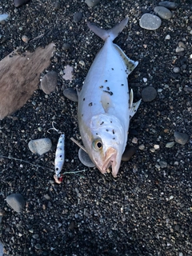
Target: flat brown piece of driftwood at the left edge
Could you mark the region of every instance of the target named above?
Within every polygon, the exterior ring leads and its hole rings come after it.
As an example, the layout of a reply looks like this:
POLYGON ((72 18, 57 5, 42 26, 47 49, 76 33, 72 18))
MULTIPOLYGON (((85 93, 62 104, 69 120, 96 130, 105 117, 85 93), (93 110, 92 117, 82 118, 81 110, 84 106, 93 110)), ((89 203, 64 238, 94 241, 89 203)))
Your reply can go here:
POLYGON ((39 76, 50 65, 54 43, 38 47, 33 53, 12 52, 0 62, 0 119, 20 109, 34 90, 39 76))

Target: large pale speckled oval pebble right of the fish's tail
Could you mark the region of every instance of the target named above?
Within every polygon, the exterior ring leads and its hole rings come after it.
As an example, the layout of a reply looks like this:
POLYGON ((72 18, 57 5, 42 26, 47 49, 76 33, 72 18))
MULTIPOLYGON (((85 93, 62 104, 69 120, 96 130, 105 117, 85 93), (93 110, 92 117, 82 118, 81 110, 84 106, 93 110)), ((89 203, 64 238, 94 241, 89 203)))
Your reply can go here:
POLYGON ((161 24, 161 18, 154 14, 143 14, 139 20, 139 26, 146 30, 157 30, 161 24))

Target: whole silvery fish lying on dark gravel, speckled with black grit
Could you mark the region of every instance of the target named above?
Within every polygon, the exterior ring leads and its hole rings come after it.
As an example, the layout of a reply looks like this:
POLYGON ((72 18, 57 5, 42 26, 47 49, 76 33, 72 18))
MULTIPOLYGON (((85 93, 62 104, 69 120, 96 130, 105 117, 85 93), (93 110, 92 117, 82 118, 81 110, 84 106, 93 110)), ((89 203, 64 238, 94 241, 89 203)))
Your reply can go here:
POLYGON ((127 22, 128 18, 124 18, 110 30, 87 23, 105 43, 78 91, 78 126, 83 146, 98 170, 106 174, 111 169, 114 178, 126 148, 130 118, 141 102, 133 103, 133 90, 129 92, 127 82, 138 62, 113 42, 127 22))

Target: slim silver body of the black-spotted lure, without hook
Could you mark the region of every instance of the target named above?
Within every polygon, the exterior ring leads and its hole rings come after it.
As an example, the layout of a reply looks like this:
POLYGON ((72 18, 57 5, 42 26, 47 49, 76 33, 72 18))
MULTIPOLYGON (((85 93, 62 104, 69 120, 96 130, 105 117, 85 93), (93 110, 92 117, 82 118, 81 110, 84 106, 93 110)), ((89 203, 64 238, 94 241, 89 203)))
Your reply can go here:
POLYGON ((61 134, 58 138, 57 150, 55 152, 54 170, 59 178, 62 171, 62 166, 65 162, 65 134, 61 134))

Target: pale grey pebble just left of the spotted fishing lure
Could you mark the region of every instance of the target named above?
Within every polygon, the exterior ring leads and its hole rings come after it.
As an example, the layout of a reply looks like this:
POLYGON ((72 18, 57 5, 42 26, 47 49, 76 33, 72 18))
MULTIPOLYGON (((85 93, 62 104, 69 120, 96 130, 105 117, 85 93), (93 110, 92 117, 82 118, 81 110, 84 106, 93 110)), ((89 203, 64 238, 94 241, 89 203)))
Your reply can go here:
POLYGON ((50 151, 52 142, 50 141, 50 138, 38 138, 31 140, 28 143, 28 146, 32 153, 42 155, 50 151))

